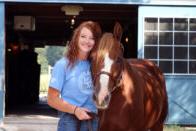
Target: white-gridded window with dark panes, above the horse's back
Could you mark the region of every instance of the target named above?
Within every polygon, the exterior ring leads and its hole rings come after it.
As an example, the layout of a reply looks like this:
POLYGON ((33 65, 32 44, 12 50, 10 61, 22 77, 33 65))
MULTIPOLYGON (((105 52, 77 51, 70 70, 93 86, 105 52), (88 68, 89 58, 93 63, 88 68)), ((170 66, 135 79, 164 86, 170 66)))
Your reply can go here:
POLYGON ((143 43, 164 73, 196 75, 196 18, 144 17, 143 43))

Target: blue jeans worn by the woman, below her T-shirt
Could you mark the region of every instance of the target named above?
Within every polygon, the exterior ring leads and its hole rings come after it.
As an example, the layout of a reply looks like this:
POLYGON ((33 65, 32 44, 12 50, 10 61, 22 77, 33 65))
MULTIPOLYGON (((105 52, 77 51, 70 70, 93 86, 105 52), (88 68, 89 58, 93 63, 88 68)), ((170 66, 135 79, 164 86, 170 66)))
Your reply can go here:
POLYGON ((78 131, 78 126, 80 131, 88 131, 89 124, 93 131, 97 131, 98 128, 98 117, 94 117, 91 120, 80 121, 75 115, 69 113, 60 112, 60 119, 58 121, 58 131, 78 131))

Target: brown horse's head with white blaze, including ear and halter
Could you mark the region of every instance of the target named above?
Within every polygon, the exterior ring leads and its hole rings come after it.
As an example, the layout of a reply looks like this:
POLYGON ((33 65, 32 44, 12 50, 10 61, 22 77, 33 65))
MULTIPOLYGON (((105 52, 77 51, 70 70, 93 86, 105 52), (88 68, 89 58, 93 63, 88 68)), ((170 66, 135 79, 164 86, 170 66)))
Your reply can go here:
POLYGON ((119 86, 122 72, 123 50, 120 43, 122 27, 114 26, 113 33, 104 33, 92 57, 94 101, 97 108, 106 109, 112 92, 119 86))

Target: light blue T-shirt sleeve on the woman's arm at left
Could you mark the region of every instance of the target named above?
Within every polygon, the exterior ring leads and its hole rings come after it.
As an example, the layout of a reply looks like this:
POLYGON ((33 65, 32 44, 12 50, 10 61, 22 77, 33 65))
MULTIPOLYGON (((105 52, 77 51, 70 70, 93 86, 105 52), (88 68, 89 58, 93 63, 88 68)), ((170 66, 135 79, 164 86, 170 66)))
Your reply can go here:
POLYGON ((67 62, 65 60, 59 60, 53 67, 52 75, 49 83, 49 87, 57 89, 61 92, 63 83, 65 80, 65 70, 66 70, 67 62))

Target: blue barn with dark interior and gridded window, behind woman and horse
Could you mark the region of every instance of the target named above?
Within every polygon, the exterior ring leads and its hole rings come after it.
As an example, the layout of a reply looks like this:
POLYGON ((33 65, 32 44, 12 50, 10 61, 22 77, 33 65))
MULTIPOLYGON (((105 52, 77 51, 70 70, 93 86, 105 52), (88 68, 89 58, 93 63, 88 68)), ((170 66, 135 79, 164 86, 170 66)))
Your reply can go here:
POLYGON ((34 49, 65 46, 75 26, 94 20, 103 31, 119 21, 124 57, 150 59, 164 72, 166 124, 195 126, 195 6, 194 0, 0 0, 0 123, 13 105, 39 101, 34 49))

